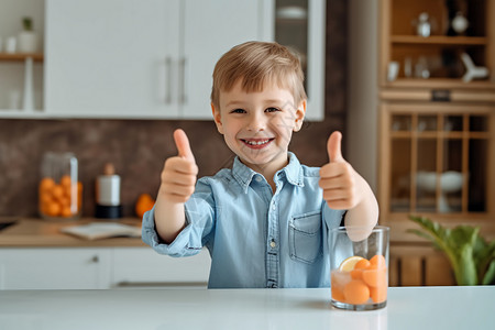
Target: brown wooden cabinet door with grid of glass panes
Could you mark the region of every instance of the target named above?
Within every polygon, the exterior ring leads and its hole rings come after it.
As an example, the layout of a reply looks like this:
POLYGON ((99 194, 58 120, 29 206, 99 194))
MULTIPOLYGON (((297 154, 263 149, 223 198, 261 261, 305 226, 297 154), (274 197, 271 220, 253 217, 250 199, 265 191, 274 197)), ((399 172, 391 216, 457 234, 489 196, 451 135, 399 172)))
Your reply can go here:
MULTIPOLYGON (((493 107, 388 103, 382 108, 381 213, 492 219, 493 107)), ((468 220, 466 219, 466 220, 468 220)))

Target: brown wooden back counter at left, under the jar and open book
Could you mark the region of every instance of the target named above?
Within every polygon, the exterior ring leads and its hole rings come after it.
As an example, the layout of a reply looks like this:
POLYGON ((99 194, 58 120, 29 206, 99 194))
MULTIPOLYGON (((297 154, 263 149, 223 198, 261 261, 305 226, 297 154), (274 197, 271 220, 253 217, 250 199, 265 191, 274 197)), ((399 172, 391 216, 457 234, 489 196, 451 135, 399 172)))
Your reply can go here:
POLYGON ((47 221, 36 218, 0 219, 0 223, 10 223, 0 231, 1 248, 86 248, 86 246, 146 246, 140 238, 111 238, 88 241, 62 233, 61 229, 69 226, 81 226, 90 222, 111 222, 141 227, 141 219, 122 218, 119 220, 81 218, 67 221, 47 221))

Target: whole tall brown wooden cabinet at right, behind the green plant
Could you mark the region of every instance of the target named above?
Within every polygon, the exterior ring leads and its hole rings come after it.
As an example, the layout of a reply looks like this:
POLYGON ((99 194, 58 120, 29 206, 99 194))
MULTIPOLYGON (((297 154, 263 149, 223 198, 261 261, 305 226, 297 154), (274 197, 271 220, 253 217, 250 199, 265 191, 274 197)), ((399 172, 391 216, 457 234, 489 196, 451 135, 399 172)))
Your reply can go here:
POLYGON ((396 233, 391 283, 452 284, 443 255, 405 232, 418 215, 494 235, 495 1, 381 0, 380 8, 378 202, 380 221, 396 233), (452 29, 458 12, 469 21, 462 33, 452 29), (425 18, 428 35, 418 26, 425 18), (463 54, 487 75, 466 79, 463 54))

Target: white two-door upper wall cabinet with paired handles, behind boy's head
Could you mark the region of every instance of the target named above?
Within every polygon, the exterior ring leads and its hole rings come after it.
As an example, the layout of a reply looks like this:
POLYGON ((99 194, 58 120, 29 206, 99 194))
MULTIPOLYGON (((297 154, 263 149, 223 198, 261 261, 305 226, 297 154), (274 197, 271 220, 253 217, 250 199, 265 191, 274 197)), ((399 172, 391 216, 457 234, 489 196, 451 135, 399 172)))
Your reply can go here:
POLYGON ((211 119, 215 63, 264 37, 262 3, 47 0, 46 113, 211 119))

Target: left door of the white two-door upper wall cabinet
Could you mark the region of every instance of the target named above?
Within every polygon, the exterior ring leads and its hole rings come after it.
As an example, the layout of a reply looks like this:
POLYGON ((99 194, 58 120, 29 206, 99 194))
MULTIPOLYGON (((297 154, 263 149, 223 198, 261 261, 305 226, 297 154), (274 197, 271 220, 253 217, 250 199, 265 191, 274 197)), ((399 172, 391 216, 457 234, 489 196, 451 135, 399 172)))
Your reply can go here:
POLYGON ((47 0, 47 113, 177 117, 178 8, 178 0, 47 0))

